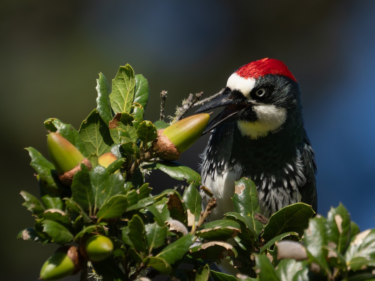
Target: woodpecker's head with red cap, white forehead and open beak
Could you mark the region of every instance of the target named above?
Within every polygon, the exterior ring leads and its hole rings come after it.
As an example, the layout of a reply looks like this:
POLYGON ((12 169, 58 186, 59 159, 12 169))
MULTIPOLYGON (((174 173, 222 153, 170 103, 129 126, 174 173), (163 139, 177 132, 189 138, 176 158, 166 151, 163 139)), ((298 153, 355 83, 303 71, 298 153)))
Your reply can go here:
POLYGON ((252 139, 282 129, 292 112, 301 112, 296 78, 282 61, 264 58, 237 69, 222 92, 195 113, 225 106, 204 133, 236 120, 242 135, 252 139))

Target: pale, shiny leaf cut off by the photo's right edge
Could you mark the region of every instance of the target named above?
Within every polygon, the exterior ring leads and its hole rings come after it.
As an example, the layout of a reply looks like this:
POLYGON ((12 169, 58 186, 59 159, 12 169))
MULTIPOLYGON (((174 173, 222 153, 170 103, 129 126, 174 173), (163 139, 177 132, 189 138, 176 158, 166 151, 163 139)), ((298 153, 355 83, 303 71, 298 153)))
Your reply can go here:
POLYGON ((375 266, 375 229, 354 236, 345 253, 345 260, 348 269, 353 271, 375 266))

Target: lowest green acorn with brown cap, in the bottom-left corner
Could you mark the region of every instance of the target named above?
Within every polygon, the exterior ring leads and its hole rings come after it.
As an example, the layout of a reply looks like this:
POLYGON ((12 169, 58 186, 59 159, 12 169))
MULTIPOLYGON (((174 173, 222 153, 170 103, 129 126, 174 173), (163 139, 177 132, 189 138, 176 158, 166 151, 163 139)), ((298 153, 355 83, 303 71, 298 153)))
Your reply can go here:
POLYGON ((82 257, 75 246, 59 248, 40 269, 40 280, 60 280, 77 274, 82 268, 82 257))

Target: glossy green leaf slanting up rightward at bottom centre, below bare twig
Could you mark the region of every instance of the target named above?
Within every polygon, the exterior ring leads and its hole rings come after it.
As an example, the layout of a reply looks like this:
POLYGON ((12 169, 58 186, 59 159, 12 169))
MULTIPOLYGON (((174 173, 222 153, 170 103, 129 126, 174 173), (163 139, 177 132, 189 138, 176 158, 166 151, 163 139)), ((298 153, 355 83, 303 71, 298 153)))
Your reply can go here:
POLYGON ((195 241, 195 236, 186 234, 165 247, 156 257, 165 260, 169 265, 173 265, 189 251, 190 246, 195 241))

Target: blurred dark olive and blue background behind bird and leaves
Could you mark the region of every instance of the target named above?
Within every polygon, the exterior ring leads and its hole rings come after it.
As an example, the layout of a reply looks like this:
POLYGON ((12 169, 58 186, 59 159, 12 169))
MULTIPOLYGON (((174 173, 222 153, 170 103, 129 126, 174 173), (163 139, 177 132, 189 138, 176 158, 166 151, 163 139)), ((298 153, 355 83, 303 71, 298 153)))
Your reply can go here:
MULTIPOLYGON (((79 129, 96 107, 98 73, 111 83, 126 63, 148 79, 146 118, 156 121, 162 90, 168 91, 166 114, 172 115, 189 93, 209 96, 225 87, 243 64, 264 57, 284 61, 299 81, 317 157, 318 212, 326 216, 342 202, 361 230, 375 227, 375 1, 20 0, 0 5, 2 280, 37 280, 56 249, 16 239, 34 221, 19 193, 38 194, 23 148, 47 155, 46 118, 79 129)), ((207 139, 180 162, 197 169, 207 139)), ((151 183, 157 176, 153 173, 151 183)))

